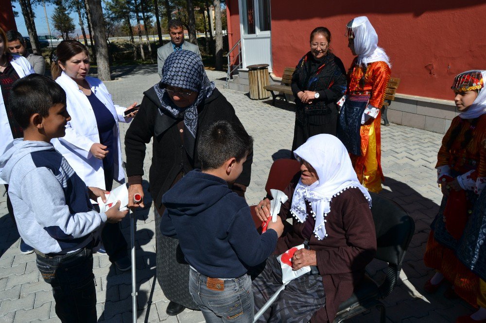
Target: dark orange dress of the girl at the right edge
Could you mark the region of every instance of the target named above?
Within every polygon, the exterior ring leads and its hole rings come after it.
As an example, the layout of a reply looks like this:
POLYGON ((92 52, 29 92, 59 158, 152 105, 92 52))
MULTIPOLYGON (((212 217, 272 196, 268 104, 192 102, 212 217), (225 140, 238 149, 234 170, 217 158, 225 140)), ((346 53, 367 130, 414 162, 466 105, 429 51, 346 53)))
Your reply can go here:
MULTIPOLYGON (((437 154, 435 167, 449 165, 451 170, 459 174, 467 173, 475 169, 471 174, 472 179, 486 177, 486 114, 479 117, 479 121, 472 126, 469 121, 461 120, 456 116, 451 126, 442 139, 442 146, 437 154), (460 131, 447 149, 447 143, 451 138, 453 129, 460 127, 460 131), (473 137, 465 148, 461 143, 466 140, 466 134, 473 128, 473 137)), ((442 221, 442 218, 436 221, 442 221)), ((446 219, 447 221, 447 219, 446 219)), ((454 291, 472 306, 486 306, 486 285, 477 275, 472 273, 455 256, 455 251, 443 246, 434 239, 434 230, 429 234, 427 248, 425 249, 424 263, 427 267, 434 268, 454 286, 454 291)))

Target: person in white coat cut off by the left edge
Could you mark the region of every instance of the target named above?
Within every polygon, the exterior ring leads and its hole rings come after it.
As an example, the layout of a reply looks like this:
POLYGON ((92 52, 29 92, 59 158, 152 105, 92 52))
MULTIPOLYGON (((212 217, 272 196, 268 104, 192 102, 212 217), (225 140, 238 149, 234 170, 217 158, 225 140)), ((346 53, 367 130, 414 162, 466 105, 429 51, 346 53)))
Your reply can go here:
MULTIPOLYGON (((8 52, 7 36, 0 28, 0 155, 3 154, 5 147, 17 138, 22 138, 23 131, 15 121, 12 112, 8 107, 8 92, 14 81, 23 78, 26 75, 35 73, 34 68, 22 56, 12 55, 8 52)), ((0 170, 1 172, 1 170, 0 170)), ((5 185, 5 191, 8 192, 8 185, 0 178, 0 184, 5 185)), ((7 195, 7 209, 15 222, 14 210, 7 195)), ((30 254, 34 249, 20 240, 20 251, 23 254, 30 254)))

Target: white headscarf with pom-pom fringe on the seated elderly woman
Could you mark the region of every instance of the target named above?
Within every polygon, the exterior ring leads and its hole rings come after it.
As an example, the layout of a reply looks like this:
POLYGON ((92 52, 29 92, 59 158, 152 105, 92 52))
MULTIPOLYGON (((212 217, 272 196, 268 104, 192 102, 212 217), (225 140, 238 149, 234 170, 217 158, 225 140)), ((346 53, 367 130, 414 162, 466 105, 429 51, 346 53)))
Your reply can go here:
POLYGON ((298 147, 294 154, 309 162, 319 179, 312 185, 302 184, 302 179, 299 180, 290 211, 302 223, 307 218, 304 199, 311 202, 315 218, 313 232, 317 239, 322 240, 328 236, 325 218, 330 212, 332 197, 347 188, 359 188, 371 207, 371 196, 358 181, 347 149, 339 139, 330 134, 315 135, 298 147))

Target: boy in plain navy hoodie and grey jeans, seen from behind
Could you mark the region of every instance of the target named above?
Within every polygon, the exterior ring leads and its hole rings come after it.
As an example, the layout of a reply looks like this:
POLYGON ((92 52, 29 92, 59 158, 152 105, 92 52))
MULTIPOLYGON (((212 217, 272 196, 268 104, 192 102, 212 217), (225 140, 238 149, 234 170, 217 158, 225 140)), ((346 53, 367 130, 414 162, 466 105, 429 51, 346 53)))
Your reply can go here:
POLYGON ((259 235, 244 198, 228 188, 243 171, 253 138, 241 125, 217 121, 201 132, 193 170, 162 197, 162 234, 179 239, 191 265, 189 291, 206 322, 252 322, 248 267, 265 261, 282 234, 281 220, 259 235))

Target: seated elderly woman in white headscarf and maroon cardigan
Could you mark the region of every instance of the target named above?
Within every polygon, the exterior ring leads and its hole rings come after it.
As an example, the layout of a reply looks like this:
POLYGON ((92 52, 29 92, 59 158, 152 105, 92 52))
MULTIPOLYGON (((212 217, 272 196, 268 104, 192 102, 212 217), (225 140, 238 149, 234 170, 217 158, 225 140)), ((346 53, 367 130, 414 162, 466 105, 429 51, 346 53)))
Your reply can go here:
MULTIPOLYGON (((294 154, 301 172, 284 191, 289 199, 279 213, 282 220, 294 217, 293 226, 278 240, 274 255, 304 244, 294 253, 293 270, 314 268, 290 281, 257 322, 332 322, 376 251, 371 197, 336 137, 312 136, 294 154)), ((261 201, 255 209, 266 221, 270 201, 261 201)), ((281 265, 271 256, 253 281, 255 312, 281 286, 281 265)))

